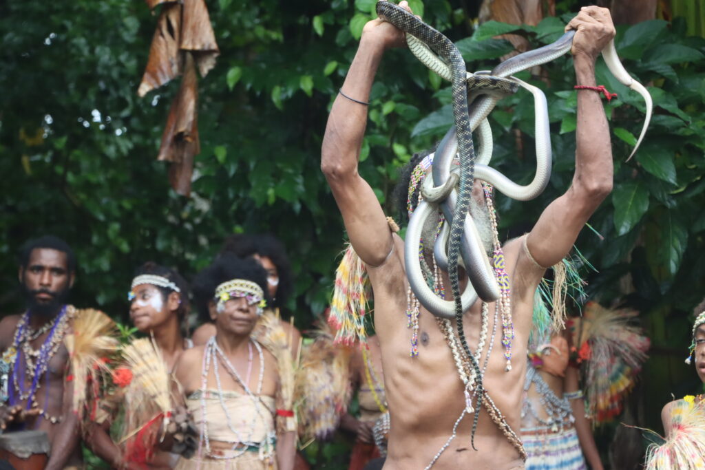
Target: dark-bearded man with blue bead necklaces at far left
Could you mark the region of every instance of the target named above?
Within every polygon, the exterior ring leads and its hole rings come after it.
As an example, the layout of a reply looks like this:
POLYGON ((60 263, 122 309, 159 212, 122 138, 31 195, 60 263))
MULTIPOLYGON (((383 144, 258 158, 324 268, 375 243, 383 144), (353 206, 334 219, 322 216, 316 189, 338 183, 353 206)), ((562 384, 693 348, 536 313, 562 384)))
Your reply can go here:
POLYGON ((76 311, 66 304, 75 256, 66 242, 48 235, 25 243, 19 264, 27 311, 0 321, 0 351, 8 366, 0 426, 46 431, 51 444, 46 468, 78 467, 79 422, 72 412, 73 381, 66 380, 69 357, 63 344, 76 311))

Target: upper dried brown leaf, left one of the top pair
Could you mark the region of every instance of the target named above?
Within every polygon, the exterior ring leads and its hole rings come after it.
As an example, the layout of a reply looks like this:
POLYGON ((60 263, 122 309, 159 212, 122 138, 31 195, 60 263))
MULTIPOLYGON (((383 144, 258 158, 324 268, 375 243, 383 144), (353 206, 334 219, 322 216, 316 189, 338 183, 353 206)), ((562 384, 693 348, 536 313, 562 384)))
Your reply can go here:
POLYGON ((181 5, 165 5, 157 21, 149 59, 137 89, 140 97, 152 89, 159 88, 181 73, 179 43, 181 37, 181 5))

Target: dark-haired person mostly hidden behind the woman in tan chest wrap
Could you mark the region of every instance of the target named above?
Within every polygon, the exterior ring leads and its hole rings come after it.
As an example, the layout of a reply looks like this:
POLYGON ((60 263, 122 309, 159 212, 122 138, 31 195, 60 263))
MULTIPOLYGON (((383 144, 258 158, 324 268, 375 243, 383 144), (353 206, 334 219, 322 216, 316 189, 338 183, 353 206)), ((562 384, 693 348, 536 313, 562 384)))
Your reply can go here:
MULTIPOLYGON (((274 315, 278 318, 289 338, 292 357, 296 359, 301 333, 293 326, 293 321, 281 319, 281 309, 286 305, 292 288, 291 268, 283 245, 272 235, 238 234, 226 239, 219 256, 226 253, 234 254, 240 259, 255 259, 266 271, 266 290, 272 299, 266 315, 274 315)), ((196 281, 194 299, 202 325, 193 332, 192 338, 195 345, 204 345, 215 335, 216 330, 214 304, 209 299, 209 293, 201 291, 196 281)))

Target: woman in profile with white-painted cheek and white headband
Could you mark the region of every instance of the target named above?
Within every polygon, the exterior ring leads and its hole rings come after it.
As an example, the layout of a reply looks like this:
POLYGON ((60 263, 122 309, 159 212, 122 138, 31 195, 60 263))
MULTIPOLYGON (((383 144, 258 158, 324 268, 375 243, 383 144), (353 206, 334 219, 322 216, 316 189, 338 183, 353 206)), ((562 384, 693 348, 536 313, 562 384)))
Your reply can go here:
MULTIPOLYGON (((184 338, 181 326, 188 314, 188 285, 176 271, 153 262, 147 262, 135 272, 128 292, 130 320, 140 333, 149 335, 159 347, 166 367, 173 371, 176 362, 185 350, 193 346, 184 338)), ((90 425, 87 444, 98 457, 116 469, 130 468, 123 462, 124 452, 109 435, 115 409, 120 403, 106 397, 90 425)), ((149 469, 171 469, 178 455, 170 452, 154 452, 147 463, 149 469)), ((144 469, 139 464, 135 468, 144 469)))

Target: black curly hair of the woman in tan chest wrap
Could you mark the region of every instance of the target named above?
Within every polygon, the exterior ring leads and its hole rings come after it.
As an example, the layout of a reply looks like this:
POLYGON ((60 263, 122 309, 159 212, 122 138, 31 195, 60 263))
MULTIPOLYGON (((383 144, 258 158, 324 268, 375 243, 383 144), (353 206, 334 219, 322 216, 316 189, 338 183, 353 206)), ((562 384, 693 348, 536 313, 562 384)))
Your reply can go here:
POLYGON ((216 287, 233 279, 246 279, 257 283, 264 291, 266 303, 271 304, 266 287, 266 271, 262 265, 255 259, 242 259, 231 252, 224 252, 213 264, 202 269, 193 280, 193 302, 198 310, 200 323, 212 323, 208 304, 215 297, 216 287))

